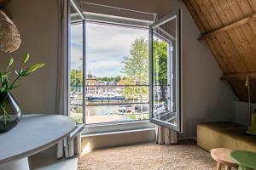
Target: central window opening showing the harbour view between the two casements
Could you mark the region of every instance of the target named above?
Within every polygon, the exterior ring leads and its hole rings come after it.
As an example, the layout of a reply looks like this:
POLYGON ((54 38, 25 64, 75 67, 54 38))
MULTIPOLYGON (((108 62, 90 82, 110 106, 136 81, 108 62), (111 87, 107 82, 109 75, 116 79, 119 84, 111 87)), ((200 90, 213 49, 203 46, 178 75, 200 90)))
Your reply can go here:
POLYGON ((148 119, 148 30, 86 26, 86 123, 148 119))

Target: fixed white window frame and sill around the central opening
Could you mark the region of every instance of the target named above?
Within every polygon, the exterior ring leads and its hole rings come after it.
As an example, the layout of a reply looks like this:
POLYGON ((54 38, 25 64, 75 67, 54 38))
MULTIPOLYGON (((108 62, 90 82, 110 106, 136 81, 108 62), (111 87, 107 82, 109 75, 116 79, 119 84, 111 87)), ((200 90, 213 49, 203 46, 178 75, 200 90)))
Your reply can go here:
MULTIPOLYGON (((86 15, 86 14, 85 14, 86 15)), ((126 26, 126 27, 133 27, 133 28, 138 28, 138 29, 147 29, 152 22, 149 21, 144 21, 144 20, 132 20, 132 19, 126 19, 126 18, 120 18, 120 17, 109 17, 106 15, 99 15, 99 14, 90 14, 86 15, 85 20, 74 20, 71 24, 79 24, 82 23, 84 24, 84 44, 85 44, 85 31, 86 31, 86 22, 95 22, 95 23, 101 23, 101 24, 107 24, 111 26, 126 26), (88 18, 87 18, 88 17, 88 18), (120 23, 116 23, 114 21, 118 21, 120 23)), ((84 56, 83 56, 83 61, 84 61, 84 67, 83 67, 83 75, 85 77, 86 75, 86 64, 85 64, 85 59, 86 59, 86 53, 84 50, 84 56)), ((148 59, 149 60, 149 59, 148 59)), ((69 71, 68 71, 69 74, 69 71)), ((149 71, 148 71, 149 74, 149 71)), ((85 79, 84 79, 85 80, 85 79)), ((68 88, 69 89, 69 88, 68 88)), ((86 84, 84 83, 84 88, 83 88, 83 100, 85 97, 85 89, 86 89, 86 84)), ((148 104, 149 105, 149 104, 148 104)), ((114 132, 114 131, 126 131, 126 130, 137 130, 137 129, 143 129, 143 128, 153 128, 154 124, 149 122, 149 120, 131 120, 131 121, 122 121, 122 122, 102 122, 102 123, 94 123, 94 124, 85 124, 86 122, 86 116, 85 116, 85 102, 83 107, 83 122, 84 122, 84 130, 82 131, 82 134, 90 134, 90 133, 108 133, 108 132, 114 132)), ((68 110, 69 111, 69 110, 68 110)))

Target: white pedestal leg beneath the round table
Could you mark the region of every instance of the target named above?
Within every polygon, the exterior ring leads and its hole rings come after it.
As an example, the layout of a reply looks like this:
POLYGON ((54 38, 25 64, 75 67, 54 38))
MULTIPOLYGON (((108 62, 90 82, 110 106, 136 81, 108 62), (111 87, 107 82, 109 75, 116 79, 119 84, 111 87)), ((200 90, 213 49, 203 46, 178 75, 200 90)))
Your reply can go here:
POLYGON ((0 170, 29 170, 29 164, 28 159, 23 158, 18 161, 12 161, 7 164, 3 164, 3 166, 0 166, 0 170))

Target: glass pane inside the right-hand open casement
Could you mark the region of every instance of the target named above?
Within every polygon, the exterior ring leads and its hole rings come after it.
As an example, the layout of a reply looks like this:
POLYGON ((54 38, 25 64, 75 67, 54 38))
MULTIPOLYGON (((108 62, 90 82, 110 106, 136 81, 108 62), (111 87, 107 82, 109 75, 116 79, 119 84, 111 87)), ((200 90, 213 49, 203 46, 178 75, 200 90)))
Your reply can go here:
POLYGON ((176 126, 177 18, 153 28, 153 118, 176 126))

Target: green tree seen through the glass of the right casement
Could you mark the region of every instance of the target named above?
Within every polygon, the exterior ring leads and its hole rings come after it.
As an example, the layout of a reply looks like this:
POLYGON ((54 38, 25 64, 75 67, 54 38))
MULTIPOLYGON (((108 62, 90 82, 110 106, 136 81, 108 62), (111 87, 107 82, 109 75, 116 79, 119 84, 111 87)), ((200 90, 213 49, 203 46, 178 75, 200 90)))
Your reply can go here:
POLYGON ((160 86, 162 99, 166 101, 167 85, 167 43, 164 41, 153 42, 153 62, 154 62, 154 85, 160 86))

